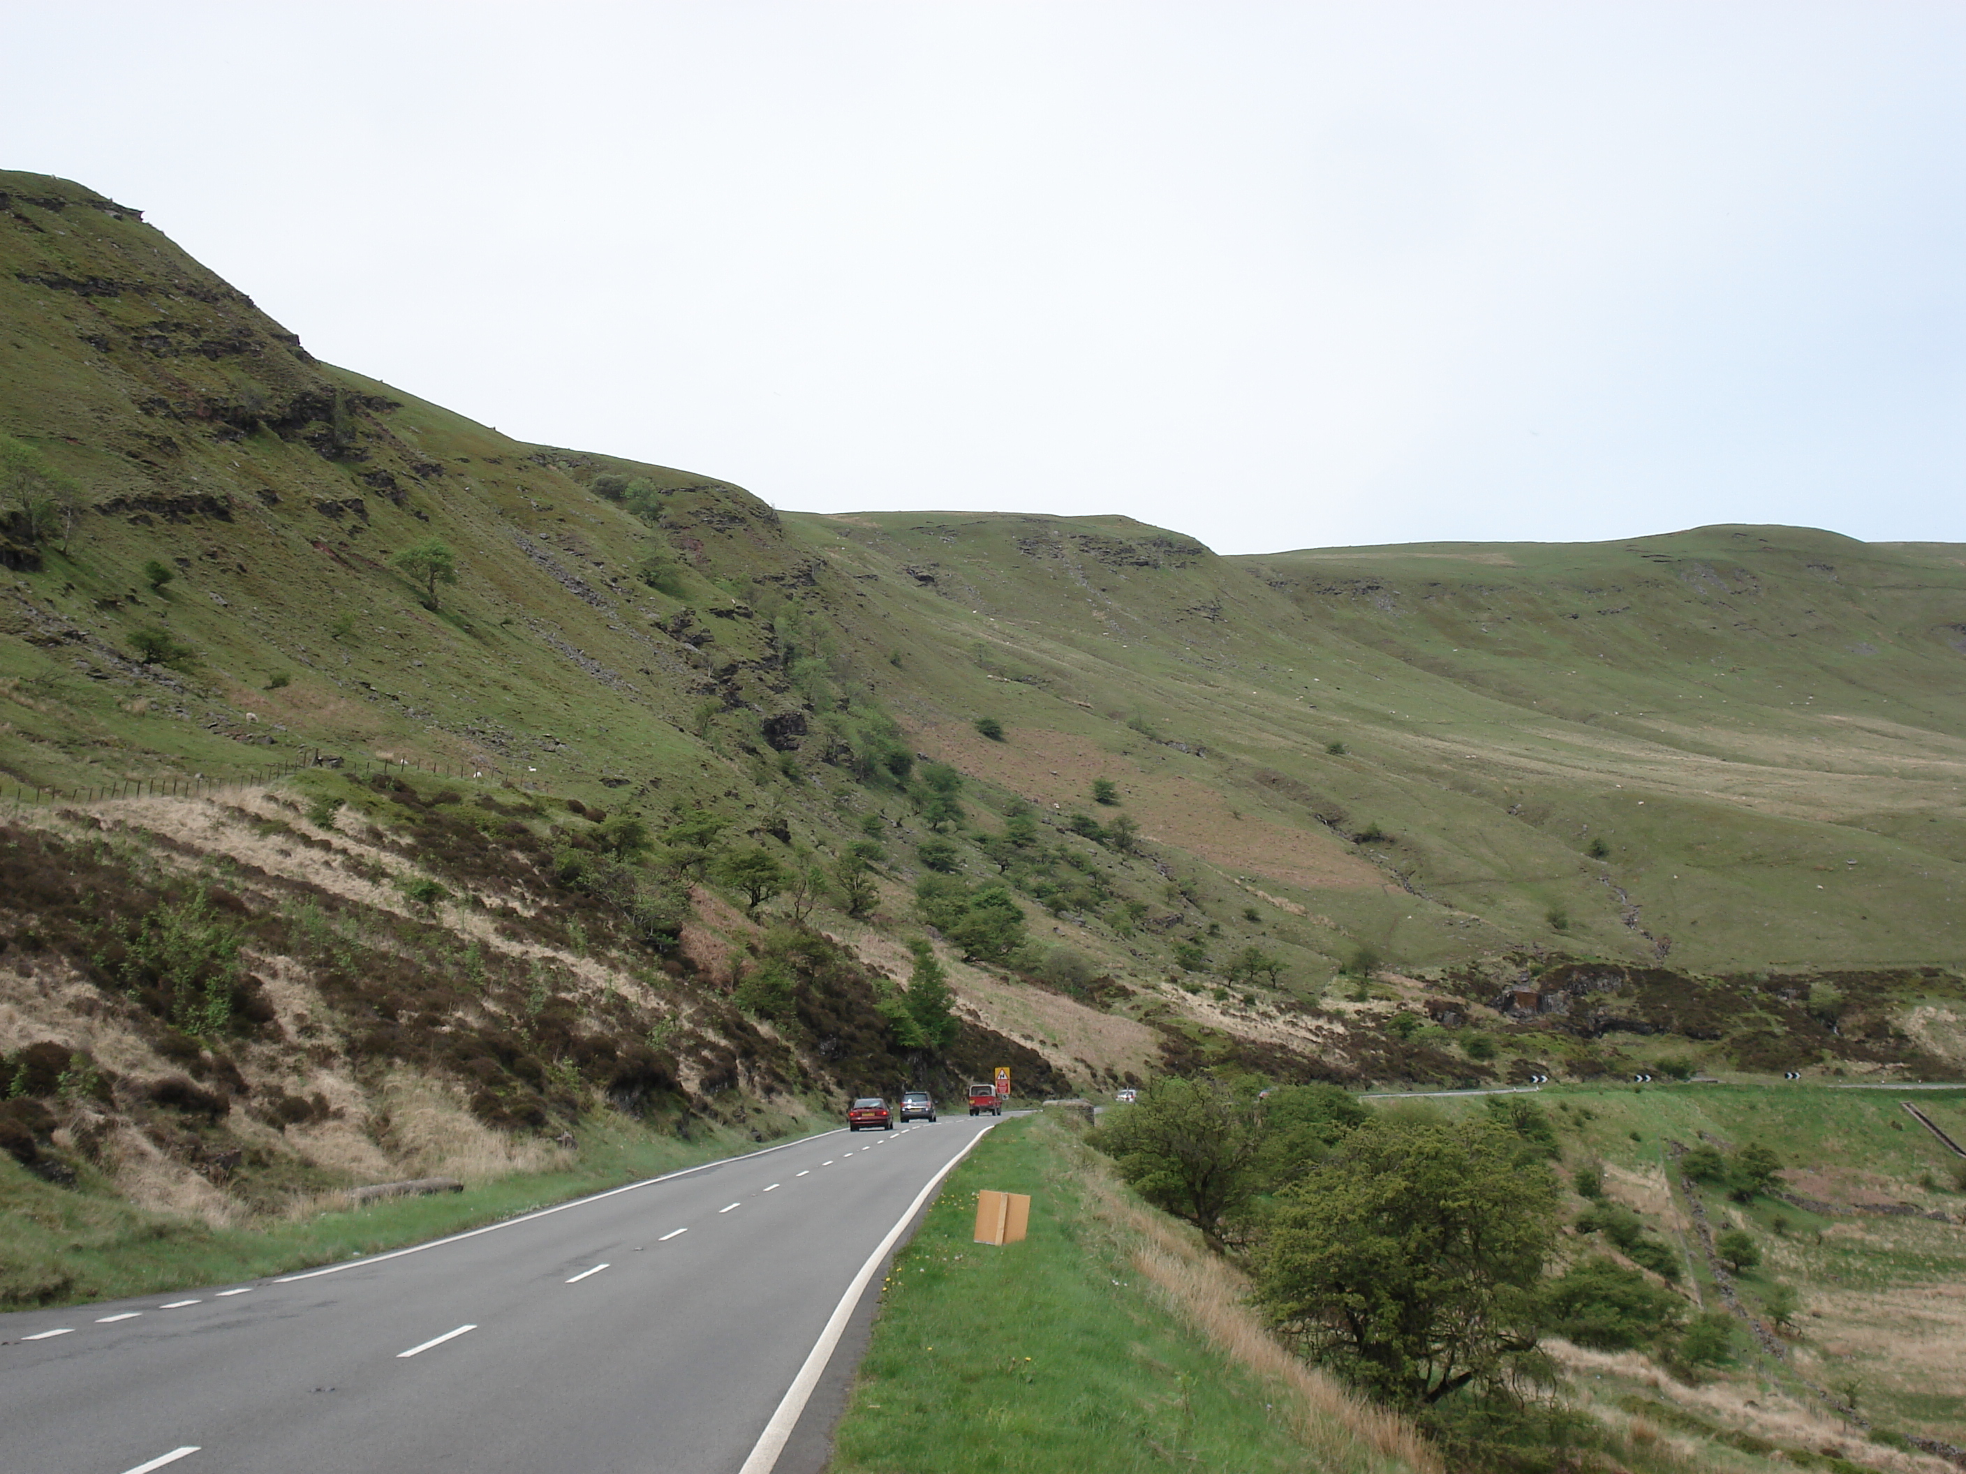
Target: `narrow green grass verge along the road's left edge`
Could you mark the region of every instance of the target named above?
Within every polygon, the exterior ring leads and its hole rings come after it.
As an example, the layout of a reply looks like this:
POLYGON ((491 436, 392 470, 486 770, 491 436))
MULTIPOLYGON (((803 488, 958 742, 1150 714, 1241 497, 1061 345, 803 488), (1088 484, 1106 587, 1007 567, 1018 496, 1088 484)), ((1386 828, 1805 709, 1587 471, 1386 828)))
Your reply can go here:
MULTIPOLYGON (((832 1122, 824 1122, 832 1126, 832 1122)), ((784 1140, 792 1140, 786 1136, 784 1140)), ((0 1309, 75 1305, 159 1289, 258 1279, 478 1228, 533 1209, 702 1162, 761 1150, 737 1132, 694 1142, 590 1120, 564 1167, 258 1226, 212 1228, 149 1213, 106 1187, 53 1187, 0 1158, 0 1309)))

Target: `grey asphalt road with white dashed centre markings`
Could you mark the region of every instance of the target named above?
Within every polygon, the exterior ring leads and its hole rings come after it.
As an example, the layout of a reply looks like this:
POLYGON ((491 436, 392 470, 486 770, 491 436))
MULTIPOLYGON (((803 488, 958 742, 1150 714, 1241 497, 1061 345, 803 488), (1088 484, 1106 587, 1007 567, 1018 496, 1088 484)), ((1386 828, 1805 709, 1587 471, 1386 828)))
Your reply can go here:
POLYGON ((834 1132, 324 1270, 0 1317, 0 1470, 767 1474, 790 1439, 777 1474, 806 1474, 826 1399, 800 1423, 788 1389, 991 1124, 834 1132))

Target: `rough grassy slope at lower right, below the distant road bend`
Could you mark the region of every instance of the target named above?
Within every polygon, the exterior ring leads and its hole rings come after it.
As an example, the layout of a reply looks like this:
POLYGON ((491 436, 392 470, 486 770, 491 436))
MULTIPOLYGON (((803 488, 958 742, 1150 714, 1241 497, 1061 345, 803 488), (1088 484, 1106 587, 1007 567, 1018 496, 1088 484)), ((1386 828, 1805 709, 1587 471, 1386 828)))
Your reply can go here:
MULTIPOLYGON (((1787 1356, 1767 1356, 1738 1329, 1730 1358, 1710 1368, 1705 1386, 1669 1388, 1683 1411, 1789 1446, 1826 1435, 1864 1458, 1878 1452, 1842 1423, 1838 1407, 1854 1407, 1883 1437, 1966 1443, 1962 1163, 1901 1106, 1915 1101, 1950 1130, 1946 1122, 1966 1118, 1966 1091, 1626 1085, 1545 1089, 1535 1101, 1557 1126, 1565 1163, 1602 1163, 1610 1199, 1681 1252, 1687 1285, 1706 1307, 1722 1301, 1671 1142, 1760 1142, 1785 1167, 1783 1191, 1832 1209, 1817 1213, 1779 1197, 1738 1203, 1718 1187, 1697 1189, 1710 1232, 1742 1228, 1754 1242, 1760 1262, 1734 1274, 1734 1285, 1742 1307, 1777 1331, 1787 1356), (1879 1211, 1893 1207, 1913 1213, 1879 1211), (1923 1217, 1933 1211, 1954 1222, 1923 1217), (1779 1285, 1799 1297, 1787 1327, 1775 1327, 1769 1311, 1779 1285)), ((1439 1105, 1453 1114, 1486 1108, 1484 1099, 1439 1105)), ((1579 1244, 1579 1252, 1606 1250, 1600 1240, 1579 1244)), ((1579 1386, 1600 1401, 1630 1393, 1649 1409, 1659 1395, 1655 1368, 1636 1356, 1585 1356, 1571 1370, 1589 1372, 1579 1386)))

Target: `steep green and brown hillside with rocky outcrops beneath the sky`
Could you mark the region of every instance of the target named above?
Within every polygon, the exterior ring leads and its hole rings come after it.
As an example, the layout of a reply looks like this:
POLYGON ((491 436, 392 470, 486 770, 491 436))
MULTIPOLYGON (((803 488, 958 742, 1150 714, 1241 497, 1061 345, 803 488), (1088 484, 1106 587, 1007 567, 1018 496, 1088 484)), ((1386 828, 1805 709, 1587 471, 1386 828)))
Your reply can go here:
POLYGON ((609 1103, 763 1130, 1007 1061, 1966 1053, 1960 548, 781 517, 320 364, 39 175, 0 436, 0 1051, 53 1177, 436 1169, 409 1099, 509 1165, 609 1103))

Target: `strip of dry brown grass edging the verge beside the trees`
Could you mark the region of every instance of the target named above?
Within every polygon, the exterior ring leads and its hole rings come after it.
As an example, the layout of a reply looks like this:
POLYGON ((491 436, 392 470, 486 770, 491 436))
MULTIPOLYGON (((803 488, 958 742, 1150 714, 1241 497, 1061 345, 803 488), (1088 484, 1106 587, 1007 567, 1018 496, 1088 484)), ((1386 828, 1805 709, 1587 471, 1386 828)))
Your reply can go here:
POLYGON ((1105 1163, 1083 1148, 1079 1179, 1093 1213, 1121 1236, 1134 1268, 1166 1305, 1229 1360, 1278 1389, 1292 1427, 1323 1468, 1414 1470, 1443 1474, 1441 1454, 1398 1413, 1355 1397, 1305 1366, 1248 1309, 1248 1281, 1166 1217, 1142 1207, 1105 1163))

